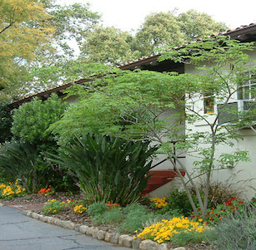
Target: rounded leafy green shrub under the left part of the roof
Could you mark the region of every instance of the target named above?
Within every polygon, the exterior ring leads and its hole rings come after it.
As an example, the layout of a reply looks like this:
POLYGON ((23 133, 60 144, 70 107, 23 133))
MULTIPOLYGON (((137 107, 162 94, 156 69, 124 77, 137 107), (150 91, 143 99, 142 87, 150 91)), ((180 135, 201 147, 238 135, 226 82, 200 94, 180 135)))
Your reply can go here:
POLYGON ((34 167, 40 172, 38 185, 42 187, 52 184, 55 189, 62 191, 74 189, 73 179, 58 165, 49 164, 45 160, 45 152, 53 153, 58 148, 48 127, 60 119, 66 107, 67 103, 56 94, 45 101, 35 98, 14 110, 12 127, 14 138, 33 145, 38 154, 37 162, 34 163, 34 167))

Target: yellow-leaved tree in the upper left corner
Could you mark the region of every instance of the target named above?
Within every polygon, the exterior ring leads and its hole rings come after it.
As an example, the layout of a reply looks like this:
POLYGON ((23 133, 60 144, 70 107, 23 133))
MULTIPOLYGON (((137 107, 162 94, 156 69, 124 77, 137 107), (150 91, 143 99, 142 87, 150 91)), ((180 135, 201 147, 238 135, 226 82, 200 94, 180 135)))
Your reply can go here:
POLYGON ((53 36, 50 15, 34 0, 0 1, 0 96, 6 100, 28 77, 28 63, 53 36))

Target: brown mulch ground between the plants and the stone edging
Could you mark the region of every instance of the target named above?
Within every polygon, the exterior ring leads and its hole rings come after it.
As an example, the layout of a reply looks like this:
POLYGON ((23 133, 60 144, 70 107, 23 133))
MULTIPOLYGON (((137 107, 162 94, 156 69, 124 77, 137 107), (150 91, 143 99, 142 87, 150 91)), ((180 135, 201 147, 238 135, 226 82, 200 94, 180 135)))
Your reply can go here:
MULTIPOLYGON (((29 194, 21 198, 15 198, 10 200, 0 200, 1 203, 6 204, 12 208, 18 208, 20 210, 30 210, 36 213, 43 214, 43 205, 48 201, 48 199, 57 199, 61 202, 67 202, 69 199, 73 200, 81 200, 83 199, 82 194, 75 194, 75 195, 67 195, 65 193, 58 193, 54 195, 44 195, 44 194, 29 194)), ((103 224, 103 225, 96 225, 91 221, 88 217, 87 213, 78 214, 73 211, 73 208, 65 207, 63 211, 56 214, 49 214, 49 216, 54 218, 60 218, 62 220, 70 220, 73 223, 81 223, 88 225, 89 227, 97 227, 101 230, 106 232, 114 233, 116 232, 116 225, 113 224, 103 224)), ((128 234, 127 232, 118 232, 123 234, 128 234)), ((168 243, 169 248, 175 248, 171 243, 168 243)), ((200 243, 189 245, 185 247, 186 250, 213 250, 208 243, 200 243)))

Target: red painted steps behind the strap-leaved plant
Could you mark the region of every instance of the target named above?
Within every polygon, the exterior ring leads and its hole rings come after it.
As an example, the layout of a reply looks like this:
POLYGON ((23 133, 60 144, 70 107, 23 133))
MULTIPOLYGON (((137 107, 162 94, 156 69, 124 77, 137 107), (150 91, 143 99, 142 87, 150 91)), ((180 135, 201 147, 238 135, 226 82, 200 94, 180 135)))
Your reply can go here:
MULTIPOLYGON (((185 171, 180 169, 180 172, 183 176, 185 175, 185 171)), ((175 170, 154 170, 149 171, 148 174, 153 174, 153 176, 148 179, 148 186, 146 189, 143 189, 142 194, 148 194, 178 176, 178 173, 175 170)))

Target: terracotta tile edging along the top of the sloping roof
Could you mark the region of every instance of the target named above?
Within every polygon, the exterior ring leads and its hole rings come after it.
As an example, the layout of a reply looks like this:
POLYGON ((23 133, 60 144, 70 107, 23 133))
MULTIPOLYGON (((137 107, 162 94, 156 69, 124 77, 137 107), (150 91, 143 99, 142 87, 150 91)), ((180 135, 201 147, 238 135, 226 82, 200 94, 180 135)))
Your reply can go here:
MULTIPOLYGON (((238 39, 239 37, 243 36, 244 34, 248 34, 250 32, 253 32, 254 34, 256 34, 256 22, 254 23, 250 23, 249 25, 243 25, 240 27, 237 27, 235 29, 232 30, 227 30, 225 32, 220 32, 218 34, 213 34, 211 36, 208 37, 218 37, 218 36, 230 36, 233 39, 238 39)), ((182 46, 179 47, 173 47, 173 49, 178 49, 178 48, 183 48, 186 47, 188 44, 192 44, 193 42, 199 42, 202 41, 202 38, 196 40, 196 41, 192 41, 192 42, 188 42, 187 44, 184 44, 182 46)), ((150 56, 144 56, 142 58, 139 58, 135 61, 128 61, 126 63, 124 63, 123 65, 119 66, 120 69, 128 69, 128 68, 132 68, 133 66, 136 65, 141 65, 143 63, 147 63, 148 61, 155 61, 158 59, 158 56, 160 56, 161 53, 156 53, 156 54, 152 54, 150 56)), ((53 92, 56 91, 63 91, 64 89, 68 88, 69 86, 72 86, 73 84, 79 84, 79 83, 83 83, 89 81, 89 79, 80 79, 78 81, 74 81, 74 82, 70 82, 70 83, 65 83, 63 85, 59 85, 59 86, 55 86, 53 88, 50 88, 46 91, 40 91, 36 94, 30 95, 30 96, 24 96, 22 99, 19 100, 15 100, 13 101, 13 103, 11 103, 12 106, 14 105, 21 105, 23 102, 32 100, 33 97, 35 96, 45 96, 48 94, 51 94, 53 92)))

